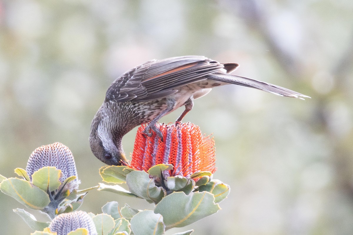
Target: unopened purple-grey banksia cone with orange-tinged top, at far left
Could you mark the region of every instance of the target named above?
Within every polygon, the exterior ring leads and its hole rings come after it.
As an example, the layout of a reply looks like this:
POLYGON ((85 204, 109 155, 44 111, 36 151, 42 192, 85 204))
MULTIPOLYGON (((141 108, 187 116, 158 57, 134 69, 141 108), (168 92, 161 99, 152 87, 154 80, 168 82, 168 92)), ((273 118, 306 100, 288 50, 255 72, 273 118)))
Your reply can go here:
POLYGON ((70 149, 64 144, 56 142, 35 149, 29 157, 26 172, 32 180, 32 174, 46 166, 54 166, 56 169, 61 170, 61 183, 68 177, 76 176, 76 179, 65 185, 62 191, 70 190, 70 192, 72 192, 74 189, 78 189, 80 181, 77 178, 75 161, 70 149))

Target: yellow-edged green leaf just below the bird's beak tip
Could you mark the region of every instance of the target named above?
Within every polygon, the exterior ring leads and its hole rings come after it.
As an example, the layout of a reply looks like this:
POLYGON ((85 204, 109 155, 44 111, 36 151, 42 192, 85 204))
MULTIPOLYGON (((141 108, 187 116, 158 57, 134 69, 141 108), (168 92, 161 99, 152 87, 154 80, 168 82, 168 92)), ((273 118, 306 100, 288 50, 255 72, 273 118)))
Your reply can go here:
POLYGON ((99 174, 106 183, 125 183, 126 175, 134 171, 127 166, 104 166, 99 169, 99 174))

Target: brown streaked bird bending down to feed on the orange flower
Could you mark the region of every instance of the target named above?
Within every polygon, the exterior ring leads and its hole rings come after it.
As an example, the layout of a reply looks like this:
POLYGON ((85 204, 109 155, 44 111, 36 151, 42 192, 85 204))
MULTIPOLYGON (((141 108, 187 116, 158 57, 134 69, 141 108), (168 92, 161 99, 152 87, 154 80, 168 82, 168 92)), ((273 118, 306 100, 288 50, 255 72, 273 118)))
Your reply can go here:
POLYGON ((126 165, 122 137, 136 126, 151 136, 157 121, 185 106, 177 122, 192 109, 193 100, 212 88, 235 84, 293 98, 310 98, 287 88, 230 74, 238 63, 220 63, 204 56, 179 56, 144 62, 117 78, 108 87, 102 106, 91 124, 92 153, 107 165, 126 165))

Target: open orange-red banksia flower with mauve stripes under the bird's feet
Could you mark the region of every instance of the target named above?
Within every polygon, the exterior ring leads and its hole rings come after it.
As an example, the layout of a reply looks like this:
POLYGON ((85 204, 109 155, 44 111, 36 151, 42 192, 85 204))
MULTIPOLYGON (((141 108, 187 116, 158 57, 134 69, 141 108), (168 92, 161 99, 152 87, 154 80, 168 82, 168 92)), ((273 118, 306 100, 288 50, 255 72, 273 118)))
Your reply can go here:
POLYGON ((190 177, 194 172, 216 171, 214 139, 202 135, 200 128, 192 123, 156 124, 162 132, 161 139, 155 132, 145 137, 146 125, 137 130, 130 167, 148 171, 157 164, 172 164, 173 169, 165 176, 190 177))

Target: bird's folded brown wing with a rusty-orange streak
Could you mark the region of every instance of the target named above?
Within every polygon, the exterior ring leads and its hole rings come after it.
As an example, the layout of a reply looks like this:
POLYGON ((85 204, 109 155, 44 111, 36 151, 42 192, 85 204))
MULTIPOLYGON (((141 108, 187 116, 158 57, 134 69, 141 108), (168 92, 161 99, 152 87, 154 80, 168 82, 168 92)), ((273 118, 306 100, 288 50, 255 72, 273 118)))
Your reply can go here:
POLYGON ((175 88, 205 79, 224 66, 203 56, 181 56, 147 61, 121 75, 108 88, 114 102, 154 100, 177 92, 175 88))

